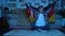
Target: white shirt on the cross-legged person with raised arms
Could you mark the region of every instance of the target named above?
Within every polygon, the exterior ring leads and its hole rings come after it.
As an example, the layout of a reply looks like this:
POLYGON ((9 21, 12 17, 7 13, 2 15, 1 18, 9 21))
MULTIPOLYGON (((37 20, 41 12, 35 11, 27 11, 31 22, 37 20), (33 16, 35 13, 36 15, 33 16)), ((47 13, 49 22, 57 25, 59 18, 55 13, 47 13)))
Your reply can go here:
POLYGON ((36 25, 37 26, 44 26, 47 23, 46 23, 46 18, 43 16, 43 14, 39 14, 38 15, 38 19, 36 21, 36 25))

